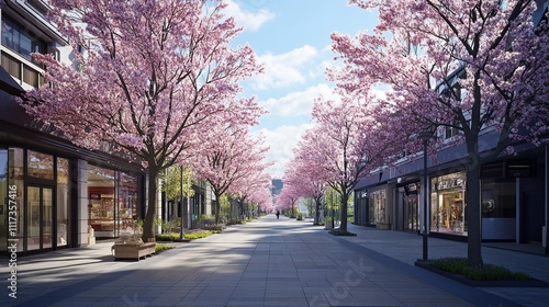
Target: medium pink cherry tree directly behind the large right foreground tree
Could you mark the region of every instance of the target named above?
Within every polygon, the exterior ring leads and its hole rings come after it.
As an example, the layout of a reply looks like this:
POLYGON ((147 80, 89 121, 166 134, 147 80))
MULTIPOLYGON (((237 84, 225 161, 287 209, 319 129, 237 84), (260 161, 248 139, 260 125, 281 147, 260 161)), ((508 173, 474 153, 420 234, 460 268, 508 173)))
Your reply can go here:
POLYGON ((318 99, 313 106, 316 122, 315 149, 310 157, 323 168, 326 182, 340 195, 341 224, 347 231, 349 196, 357 183, 373 169, 383 167, 391 157, 402 151, 402 143, 378 121, 378 105, 373 96, 363 100, 340 93, 340 101, 318 99))

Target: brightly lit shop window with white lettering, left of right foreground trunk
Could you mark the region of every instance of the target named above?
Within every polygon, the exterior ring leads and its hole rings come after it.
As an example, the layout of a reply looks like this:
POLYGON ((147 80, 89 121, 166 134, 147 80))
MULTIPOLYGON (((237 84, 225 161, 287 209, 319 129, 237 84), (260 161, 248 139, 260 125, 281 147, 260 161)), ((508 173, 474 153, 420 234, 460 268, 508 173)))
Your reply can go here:
POLYGON ((430 185, 430 231, 467 236, 466 173, 433 178, 430 185))

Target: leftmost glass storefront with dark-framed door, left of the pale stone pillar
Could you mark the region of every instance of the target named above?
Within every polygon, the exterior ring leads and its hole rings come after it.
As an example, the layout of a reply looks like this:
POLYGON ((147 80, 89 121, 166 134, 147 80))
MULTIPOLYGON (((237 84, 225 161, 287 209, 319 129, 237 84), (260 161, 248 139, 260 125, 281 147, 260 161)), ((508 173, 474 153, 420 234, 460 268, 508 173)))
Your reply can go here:
POLYGON ((70 161, 19 147, 0 148, 0 251, 71 243, 70 161))

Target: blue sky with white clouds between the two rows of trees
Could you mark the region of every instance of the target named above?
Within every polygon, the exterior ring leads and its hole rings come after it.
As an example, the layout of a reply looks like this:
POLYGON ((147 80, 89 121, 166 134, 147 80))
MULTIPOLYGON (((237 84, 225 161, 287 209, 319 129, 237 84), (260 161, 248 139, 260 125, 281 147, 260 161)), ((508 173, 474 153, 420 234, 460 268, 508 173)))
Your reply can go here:
POLYGON ((265 72, 243 82, 244 95, 269 113, 253 127, 270 147, 267 172, 281 179, 293 148, 312 126, 311 111, 320 94, 332 96, 334 84, 326 81, 325 68, 333 66, 330 34, 355 36, 378 23, 374 12, 347 0, 226 0, 226 14, 234 16, 243 32, 233 45, 249 44, 265 72))

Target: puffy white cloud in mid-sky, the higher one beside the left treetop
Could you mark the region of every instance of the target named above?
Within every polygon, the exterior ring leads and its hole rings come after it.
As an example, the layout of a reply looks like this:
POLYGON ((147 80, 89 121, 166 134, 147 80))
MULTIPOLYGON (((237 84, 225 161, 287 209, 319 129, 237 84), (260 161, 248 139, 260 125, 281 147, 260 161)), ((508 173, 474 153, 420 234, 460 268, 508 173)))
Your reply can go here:
POLYGON ((249 79, 255 90, 285 88, 304 83, 311 70, 316 67, 315 57, 318 52, 315 47, 304 45, 281 55, 266 54, 258 57, 265 65, 265 72, 249 79))

